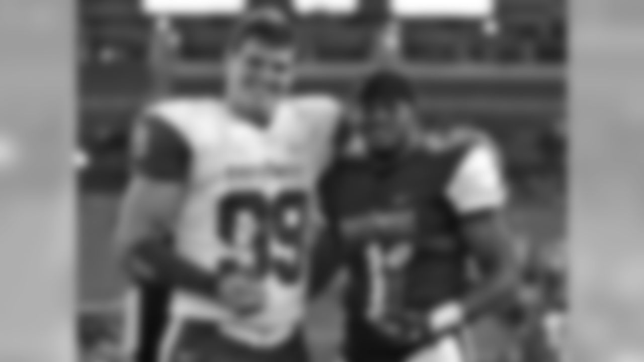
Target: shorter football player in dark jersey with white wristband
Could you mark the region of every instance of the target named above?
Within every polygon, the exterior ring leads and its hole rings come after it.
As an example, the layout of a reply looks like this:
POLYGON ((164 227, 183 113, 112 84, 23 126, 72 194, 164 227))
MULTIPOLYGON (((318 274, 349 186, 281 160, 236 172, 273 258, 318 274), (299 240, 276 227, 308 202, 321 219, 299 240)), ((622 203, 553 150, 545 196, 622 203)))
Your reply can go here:
POLYGON ((370 76, 356 135, 321 182, 312 294, 346 269, 347 362, 463 361, 460 330, 520 280, 495 148, 424 133, 414 98, 395 71, 370 76))

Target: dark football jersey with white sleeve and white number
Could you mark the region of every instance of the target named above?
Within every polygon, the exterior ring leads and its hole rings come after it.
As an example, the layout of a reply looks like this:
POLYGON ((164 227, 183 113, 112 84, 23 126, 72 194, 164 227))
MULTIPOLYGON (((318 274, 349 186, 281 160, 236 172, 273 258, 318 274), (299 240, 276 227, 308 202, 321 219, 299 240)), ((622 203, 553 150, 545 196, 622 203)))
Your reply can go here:
POLYGON ((468 287, 460 216, 503 204, 489 144, 424 142, 392 160, 337 162, 322 185, 328 226, 341 243, 350 315, 424 311, 468 287))

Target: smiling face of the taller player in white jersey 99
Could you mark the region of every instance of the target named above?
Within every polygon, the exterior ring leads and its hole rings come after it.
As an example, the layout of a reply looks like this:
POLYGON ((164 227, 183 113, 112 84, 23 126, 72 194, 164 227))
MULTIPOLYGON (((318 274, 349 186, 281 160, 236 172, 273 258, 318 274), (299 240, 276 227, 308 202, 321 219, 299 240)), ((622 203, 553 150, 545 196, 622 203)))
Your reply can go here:
POLYGON ((247 39, 227 58, 227 87, 236 102, 252 113, 267 115, 289 93, 295 76, 296 51, 247 39))

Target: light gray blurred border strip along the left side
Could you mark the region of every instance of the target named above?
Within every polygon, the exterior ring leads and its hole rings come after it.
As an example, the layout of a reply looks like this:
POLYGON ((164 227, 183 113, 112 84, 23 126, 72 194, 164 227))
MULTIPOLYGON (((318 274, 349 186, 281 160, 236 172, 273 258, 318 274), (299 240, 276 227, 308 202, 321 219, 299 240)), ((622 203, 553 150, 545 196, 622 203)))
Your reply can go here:
POLYGON ((0 361, 72 362, 71 0, 0 0, 0 361))

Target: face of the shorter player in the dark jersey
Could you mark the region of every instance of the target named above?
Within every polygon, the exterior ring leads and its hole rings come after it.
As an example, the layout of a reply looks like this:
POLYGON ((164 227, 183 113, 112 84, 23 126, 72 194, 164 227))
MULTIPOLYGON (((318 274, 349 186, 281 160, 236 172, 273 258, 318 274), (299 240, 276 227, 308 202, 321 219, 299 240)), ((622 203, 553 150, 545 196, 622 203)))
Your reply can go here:
POLYGON ((413 108, 407 102, 374 104, 363 110, 361 131, 373 151, 395 151, 404 146, 415 124, 413 108))

